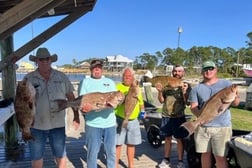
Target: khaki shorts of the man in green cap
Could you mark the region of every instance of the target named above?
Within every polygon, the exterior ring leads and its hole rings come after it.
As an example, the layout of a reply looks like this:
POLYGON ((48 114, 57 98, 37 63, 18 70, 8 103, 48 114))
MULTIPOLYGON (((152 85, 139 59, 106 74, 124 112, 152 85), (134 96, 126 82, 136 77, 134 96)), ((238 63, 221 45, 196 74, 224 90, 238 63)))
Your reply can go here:
POLYGON ((198 127, 194 133, 196 152, 212 152, 216 156, 224 157, 227 155, 231 137, 231 127, 198 127))

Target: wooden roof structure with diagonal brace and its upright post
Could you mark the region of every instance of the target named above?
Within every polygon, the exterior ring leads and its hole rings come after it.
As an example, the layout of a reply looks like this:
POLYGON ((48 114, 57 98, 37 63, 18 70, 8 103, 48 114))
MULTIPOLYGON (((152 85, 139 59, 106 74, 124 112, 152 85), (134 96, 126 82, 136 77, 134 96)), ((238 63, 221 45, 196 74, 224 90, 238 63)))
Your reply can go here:
MULTIPOLYGON (((14 64, 71 23, 93 10, 96 0, 0 0, 0 49, 3 98, 13 98, 16 88, 14 64), (37 18, 62 15, 62 19, 26 44, 13 49, 12 35, 37 18)), ((13 113, 12 113, 13 114, 13 113)), ((9 116, 8 116, 9 117, 9 116)), ((3 119, 3 118, 2 118, 3 119)), ((15 117, 4 118, 5 144, 17 145, 15 117)))

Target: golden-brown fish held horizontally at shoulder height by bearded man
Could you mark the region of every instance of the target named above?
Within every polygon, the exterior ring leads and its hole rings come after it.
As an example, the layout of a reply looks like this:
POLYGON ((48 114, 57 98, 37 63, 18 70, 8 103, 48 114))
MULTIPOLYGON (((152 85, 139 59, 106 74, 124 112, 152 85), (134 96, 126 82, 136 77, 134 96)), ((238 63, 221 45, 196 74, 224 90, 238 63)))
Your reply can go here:
POLYGON ((150 78, 148 76, 143 76, 144 82, 150 82, 152 87, 155 87, 157 83, 161 83, 163 87, 178 88, 183 86, 182 79, 178 79, 172 76, 154 76, 150 78))

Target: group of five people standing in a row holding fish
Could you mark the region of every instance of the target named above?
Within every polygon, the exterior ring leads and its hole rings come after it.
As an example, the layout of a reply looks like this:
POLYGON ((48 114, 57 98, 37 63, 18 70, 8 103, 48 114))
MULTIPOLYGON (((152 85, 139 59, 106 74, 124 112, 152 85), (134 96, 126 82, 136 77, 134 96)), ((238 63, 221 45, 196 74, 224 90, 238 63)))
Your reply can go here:
MULTIPOLYGON (((34 140, 28 142, 31 153, 32 167, 43 167, 43 154, 47 138, 55 157, 57 167, 67 167, 66 155, 66 133, 65 133, 65 111, 52 113, 55 104, 54 99, 74 100, 74 88, 67 76, 54 70, 51 64, 57 61, 57 55, 51 55, 47 48, 39 48, 36 55, 30 56, 38 68, 28 73, 27 78, 36 89, 36 114, 35 123, 31 128, 34 140)), ((99 59, 90 63, 91 75, 84 78, 79 85, 78 95, 85 95, 93 92, 120 91, 127 95, 130 86, 135 80, 132 68, 126 67, 123 71, 122 81, 115 84, 110 78, 103 76, 103 62, 99 59)), ((182 66, 175 66, 172 71, 173 77, 182 79, 185 70, 182 66)), ((206 61, 202 65, 203 81, 191 88, 189 83, 184 82, 181 88, 172 91, 167 90, 160 83, 156 84, 158 100, 163 104, 161 133, 165 137, 164 159, 158 164, 159 168, 171 167, 170 154, 172 137, 177 140, 178 163, 177 168, 185 167, 183 163, 183 135, 179 127, 186 121, 185 108, 190 105, 193 114, 198 116, 203 104, 216 92, 231 85, 229 81, 217 78, 217 67, 212 61, 206 61), (172 106, 173 108, 167 108, 172 106)), ((139 88, 140 89, 140 88, 139 88)), ((103 109, 101 112, 82 111, 85 119, 85 142, 87 147, 87 168, 97 168, 98 152, 102 143, 106 154, 106 166, 108 168, 119 168, 122 145, 126 144, 128 167, 134 167, 135 146, 141 144, 139 117, 146 117, 144 114, 144 101, 142 92, 136 95, 137 103, 128 118, 126 127, 122 127, 125 119, 125 104, 116 108, 103 109), (144 114, 144 115, 140 115, 144 114)), ((239 97, 234 100, 238 105, 239 97)), ((91 105, 86 103, 82 107, 86 111, 91 110, 91 105)), ((74 113, 73 125, 75 129, 80 126, 78 109, 72 108, 74 113)), ((231 115, 227 110, 213 121, 203 124, 197 128, 194 138, 196 152, 202 153, 201 163, 203 168, 210 168, 211 154, 216 160, 216 166, 227 168, 226 154, 227 142, 232 136, 231 115)))

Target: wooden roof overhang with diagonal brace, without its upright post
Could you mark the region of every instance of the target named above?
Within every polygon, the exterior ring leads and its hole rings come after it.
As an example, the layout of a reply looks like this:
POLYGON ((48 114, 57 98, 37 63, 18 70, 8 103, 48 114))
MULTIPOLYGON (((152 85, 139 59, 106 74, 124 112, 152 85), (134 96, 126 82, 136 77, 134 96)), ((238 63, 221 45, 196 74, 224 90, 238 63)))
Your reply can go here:
POLYGON ((96 0, 0 0, 0 41, 37 18, 66 16, 1 60, 0 71, 92 11, 95 3, 96 0))

